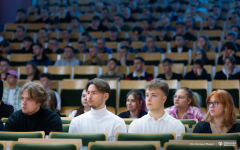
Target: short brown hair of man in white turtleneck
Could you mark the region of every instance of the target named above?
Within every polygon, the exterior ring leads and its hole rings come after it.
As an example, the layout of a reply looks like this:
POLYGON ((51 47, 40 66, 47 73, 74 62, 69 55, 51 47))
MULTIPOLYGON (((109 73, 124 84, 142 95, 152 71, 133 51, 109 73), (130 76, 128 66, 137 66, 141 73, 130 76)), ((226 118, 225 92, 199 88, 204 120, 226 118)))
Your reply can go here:
POLYGON ((105 80, 99 79, 99 78, 94 78, 94 79, 88 81, 85 86, 86 91, 88 91, 88 87, 91 84, 95 85, 98 91, 100 91, 102 93, 108 93, 110 95, 111 88, 105 80))

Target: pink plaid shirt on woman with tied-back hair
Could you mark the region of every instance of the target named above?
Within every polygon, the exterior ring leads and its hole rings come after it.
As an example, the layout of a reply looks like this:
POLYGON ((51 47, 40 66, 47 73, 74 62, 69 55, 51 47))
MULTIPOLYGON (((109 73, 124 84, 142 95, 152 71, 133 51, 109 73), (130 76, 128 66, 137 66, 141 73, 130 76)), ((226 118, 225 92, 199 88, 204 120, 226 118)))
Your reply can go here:
MULTIPOLYGON (((176 106, 171 106, 165 109, 165 111, 168 112, 172 117, 178 119, 176 106)), ((205 115, 199 108, 189 105, 187 112, 183 115, 183 118, 179 119, 197 119, 200 122, 204 118, 205 115)))

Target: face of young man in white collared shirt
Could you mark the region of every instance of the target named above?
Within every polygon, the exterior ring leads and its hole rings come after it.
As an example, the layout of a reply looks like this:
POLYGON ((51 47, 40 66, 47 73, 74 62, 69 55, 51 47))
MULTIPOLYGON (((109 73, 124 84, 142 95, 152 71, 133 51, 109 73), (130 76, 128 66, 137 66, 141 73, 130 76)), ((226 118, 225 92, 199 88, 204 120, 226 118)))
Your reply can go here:
POLYGON ((164 103, 167 97, 164 96, 160 89, 147 89, 146 90, 146 106, 150 111, 159 111, 164 109, 164 103))

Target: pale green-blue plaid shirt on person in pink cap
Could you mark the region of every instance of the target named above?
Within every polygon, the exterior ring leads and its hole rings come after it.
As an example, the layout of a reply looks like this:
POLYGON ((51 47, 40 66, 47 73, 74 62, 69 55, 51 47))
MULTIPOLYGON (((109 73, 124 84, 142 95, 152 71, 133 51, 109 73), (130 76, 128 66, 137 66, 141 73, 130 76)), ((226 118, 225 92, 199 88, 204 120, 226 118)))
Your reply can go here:
MULTIPOLYGON (((8 102, 8 96, 9 96, 9 87, 5 88, 3 90, 3 98, 2 101, 5 103, 9 103, 8 102)), ((16 91, 13 94, 13 100, 12 100, 12 105, 16 108, 16 110, 20 110, 22 108, 22 102, 21 100, 18 98, 19 96, 19 92, 20 92, 21 88, 19 86, 16 87, 16 91)))

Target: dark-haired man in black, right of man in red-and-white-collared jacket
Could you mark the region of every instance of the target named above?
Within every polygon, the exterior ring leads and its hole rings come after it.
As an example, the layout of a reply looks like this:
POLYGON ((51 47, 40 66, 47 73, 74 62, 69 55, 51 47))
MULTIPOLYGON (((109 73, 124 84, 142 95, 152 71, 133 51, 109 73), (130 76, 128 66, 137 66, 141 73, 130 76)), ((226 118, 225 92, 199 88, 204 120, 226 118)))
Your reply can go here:
POLYGON ((172 71, 173 60, 170 58, 165 58, 162 61, 162 67, 164 74, 159 74, 157 78, 162 78, 164 80, 178 80, 180 81, 183 77, 182 74, 174 73, 172 71))

